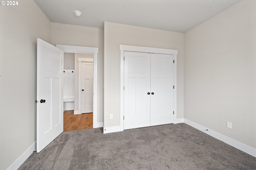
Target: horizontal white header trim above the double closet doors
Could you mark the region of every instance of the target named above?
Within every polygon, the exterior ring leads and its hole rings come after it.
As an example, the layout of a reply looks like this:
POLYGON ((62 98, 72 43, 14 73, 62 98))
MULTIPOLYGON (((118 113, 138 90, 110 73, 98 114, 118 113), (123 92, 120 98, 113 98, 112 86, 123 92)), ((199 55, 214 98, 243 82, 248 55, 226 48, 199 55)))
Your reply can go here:
POLYGON ((142 53, 158 53, 158 54, 178 55, 178 50, 175 50, 175 49, 139 47, 139 46, 132 46, 132 45, 120 45, 119 49, 120 49, 120 51, 133 51, 133 52, 142 52, 142 53))

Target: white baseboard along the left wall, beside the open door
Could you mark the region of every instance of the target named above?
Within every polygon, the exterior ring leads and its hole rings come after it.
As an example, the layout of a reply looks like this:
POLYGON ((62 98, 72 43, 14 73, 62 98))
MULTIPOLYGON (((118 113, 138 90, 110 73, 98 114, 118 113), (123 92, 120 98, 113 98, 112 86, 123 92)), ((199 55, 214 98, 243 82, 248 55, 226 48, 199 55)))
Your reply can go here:
POLYGON ((36 151, 36 142, 34 142, 7 170, 17 170, 28 157, 36 151))

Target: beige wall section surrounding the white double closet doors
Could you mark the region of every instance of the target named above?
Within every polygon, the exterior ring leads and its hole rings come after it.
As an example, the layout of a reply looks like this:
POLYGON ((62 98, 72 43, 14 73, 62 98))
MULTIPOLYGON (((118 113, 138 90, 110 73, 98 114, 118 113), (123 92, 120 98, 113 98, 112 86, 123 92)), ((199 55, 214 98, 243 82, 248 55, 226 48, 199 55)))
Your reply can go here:
POLYGON ((104 127, 120 126, 120 44, 178 49, 177 118, 183 118, 184 33, 105 22, 104 127))

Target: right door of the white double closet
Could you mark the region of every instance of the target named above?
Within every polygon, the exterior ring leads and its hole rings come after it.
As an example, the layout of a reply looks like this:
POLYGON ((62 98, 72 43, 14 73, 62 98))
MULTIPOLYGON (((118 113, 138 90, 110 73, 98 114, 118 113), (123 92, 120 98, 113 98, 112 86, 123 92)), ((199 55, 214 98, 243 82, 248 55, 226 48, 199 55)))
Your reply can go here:
POLYGON ((150 126, 174 122, 174 57, 151 54, 150 126))

